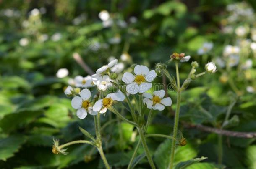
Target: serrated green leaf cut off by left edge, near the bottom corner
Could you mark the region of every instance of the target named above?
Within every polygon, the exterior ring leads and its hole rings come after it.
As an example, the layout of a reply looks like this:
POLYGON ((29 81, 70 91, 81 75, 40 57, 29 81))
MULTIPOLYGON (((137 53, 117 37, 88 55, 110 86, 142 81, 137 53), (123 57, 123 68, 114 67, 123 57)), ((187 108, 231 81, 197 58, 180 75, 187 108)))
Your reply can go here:
POLYGON ((6 159, 14 156, 14 153, 18 152, 25 141, 24 136, 9 136, 0 139, 0 160, 6 161, 6 159))

